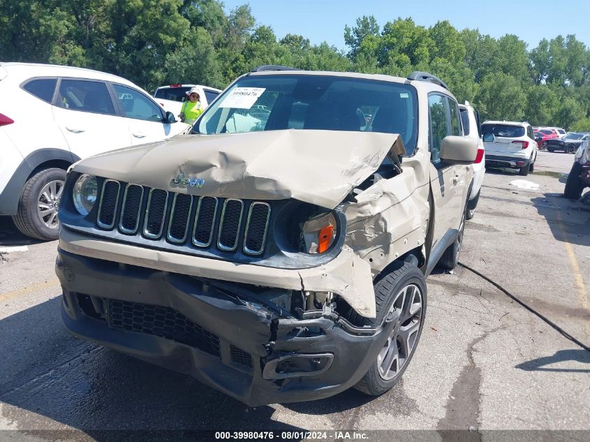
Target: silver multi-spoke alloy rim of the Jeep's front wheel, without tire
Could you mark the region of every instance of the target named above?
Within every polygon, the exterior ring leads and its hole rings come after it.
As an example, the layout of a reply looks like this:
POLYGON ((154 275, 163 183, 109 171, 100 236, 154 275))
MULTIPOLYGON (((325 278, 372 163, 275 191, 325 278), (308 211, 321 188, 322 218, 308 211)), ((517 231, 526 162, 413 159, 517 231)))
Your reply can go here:
POLYGON ((415 348, 422 325, 420 288, 415 284, 402 288, 391 304, 390 313, 393 311, 397 311, 400 326, 394 328, 377 355, 379 376, 385 381, 401 373, 415 348))

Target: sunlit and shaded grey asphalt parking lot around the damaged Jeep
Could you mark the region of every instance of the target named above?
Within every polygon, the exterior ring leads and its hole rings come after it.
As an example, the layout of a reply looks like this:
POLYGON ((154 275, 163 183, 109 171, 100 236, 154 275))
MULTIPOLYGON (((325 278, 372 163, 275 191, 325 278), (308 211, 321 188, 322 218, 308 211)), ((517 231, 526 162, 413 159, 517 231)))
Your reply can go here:
MULTIPOLYGON (((590 346, 590 205, 561 197, 572 161, 539 152, 528 177, 489 171, 460 260, 590 346), (511 184, 519 179, 538 189, 511 184)), ((59 316, 56 247, 0 221, 0 429, 27 430, 30 440, 59 429, 91 440, 102 429, 470 427, 590 438, 590 352, 464 267, 429 277, 418 351, 388 394, 248 408, 71 337, 59 316)))

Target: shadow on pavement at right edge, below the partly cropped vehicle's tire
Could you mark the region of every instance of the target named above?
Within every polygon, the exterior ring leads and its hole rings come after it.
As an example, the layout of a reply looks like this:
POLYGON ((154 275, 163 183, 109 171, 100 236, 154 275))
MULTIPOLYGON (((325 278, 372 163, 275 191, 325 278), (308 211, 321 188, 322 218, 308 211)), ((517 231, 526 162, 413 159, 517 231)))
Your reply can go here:
POLYGON ((531 198, 531 202, 547 220, 556 240, 590 246, 588 205, 568 200, 557 193, 545 193, 543 197, 531 198))

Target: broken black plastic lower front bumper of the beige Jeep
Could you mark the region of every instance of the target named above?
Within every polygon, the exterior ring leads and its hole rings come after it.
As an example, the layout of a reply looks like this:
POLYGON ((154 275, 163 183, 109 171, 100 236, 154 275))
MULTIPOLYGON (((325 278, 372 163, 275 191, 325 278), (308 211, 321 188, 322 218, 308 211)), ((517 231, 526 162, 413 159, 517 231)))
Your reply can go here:
MULTIPOLYGON (((321 399, 346 390, 399 327, 392 316, 374 329, 353 327, 330 309, 296 319, 219 289, 216 281, 62 249, 56 272, 64 289, 61 316, 73 334, 191 374, 249 406, 321 399), (150 329, 146 324, 158 319, 148 321, 144 312, 153 313, 154 306, 163 316, 181 314, 183 327, 198 330, 196 338, 150 329), (121 315, 127 315, 126 327, 121 315)), ((164 329, 163 324, 158 330, 164 329)))

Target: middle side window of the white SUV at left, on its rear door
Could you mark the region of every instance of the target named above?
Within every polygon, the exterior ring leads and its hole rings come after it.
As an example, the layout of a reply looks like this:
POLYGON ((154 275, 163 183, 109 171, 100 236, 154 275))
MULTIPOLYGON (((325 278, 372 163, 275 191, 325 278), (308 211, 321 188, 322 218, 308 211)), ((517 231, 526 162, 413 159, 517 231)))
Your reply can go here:
POLYGON ((61 80, 59 105, 64 109, 115 115, 107 85, 88 80, 61 80))

